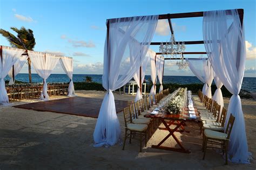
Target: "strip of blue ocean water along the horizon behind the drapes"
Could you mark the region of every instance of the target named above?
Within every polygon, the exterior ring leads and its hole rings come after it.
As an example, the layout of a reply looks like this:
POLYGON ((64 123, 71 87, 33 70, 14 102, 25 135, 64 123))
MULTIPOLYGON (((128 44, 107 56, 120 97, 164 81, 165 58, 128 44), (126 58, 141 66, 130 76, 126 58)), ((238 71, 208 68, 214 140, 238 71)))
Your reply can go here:
MULTIPOLYGON (((102 83, 102 75, 98 74, 73 74, 74 82, 85 81, 85 76, 91 76, 93 82, 102 83)), ((15 77, 16 80, 22 82, 29 82, 28 74, 18 74, 15 77)), ((145 76, 146 80, 150 79, 150 75, 145 76)), ((5 80, 10 80, 8 76, 5 80)), ((69 77, 66 74, 51 74, 47 82, 69 82, 69 77)), ((43 79, 38 74, 32 74, 32 82, 43 82, 43 79)), ((191 84, 191 83, 201 83, 196 76, 164 76, 164 83, 178 83, 178 84, 191 84)), ((213 81, 214 84, 214 81, 213 81)), ((242 81, 242 89, 250 92, 256 92, 256 77, 244 77, 242 81)))

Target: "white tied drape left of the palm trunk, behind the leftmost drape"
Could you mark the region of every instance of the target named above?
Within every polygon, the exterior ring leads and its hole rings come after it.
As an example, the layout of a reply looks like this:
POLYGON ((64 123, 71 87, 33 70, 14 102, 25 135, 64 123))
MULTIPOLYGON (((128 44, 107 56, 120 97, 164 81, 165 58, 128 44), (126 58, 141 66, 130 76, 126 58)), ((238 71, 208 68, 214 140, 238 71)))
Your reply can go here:
MULTIPOLYGON (((21 72, 22 67, 24 66, 24 63, 26 62, 26 60, 28 59, 28 55, 21 55, 18 57, 18 60, 15 62, 14 64, 14 77, 16 77, 16 75, 21 72)), ((12 85, 15 83, 15 79, 13 79, 12 77, 12 68, 10 69, 8 76, 11 78, 9 81, 9 85, 12 85)))

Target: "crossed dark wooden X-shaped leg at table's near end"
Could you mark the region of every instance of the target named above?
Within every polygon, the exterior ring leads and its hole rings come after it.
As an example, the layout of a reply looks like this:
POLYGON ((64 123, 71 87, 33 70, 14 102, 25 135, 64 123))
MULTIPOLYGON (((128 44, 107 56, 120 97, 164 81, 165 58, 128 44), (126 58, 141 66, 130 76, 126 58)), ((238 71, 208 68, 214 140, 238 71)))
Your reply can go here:
POLYGON ((179 124, 174 128, 173 130, 170 129, 169 125, 165 122, 163 118, 160 118, 161 122, 165 125, 165 128, 170 132, 163 140, 160 141, 158 145, 152 145, 152 148, 158 148, 161 150, 169 150, 169 151, 175 151, 175 152, 183 152, 183 153, 190 153, 190 151, 186 150, 183 145, 180 143, 179 139, 175 136, 174 132, 178 130, 178 128, 183 124, 184 121, 180 121, 179 124), (167 140, 170 136, 174 138, 174 140, 177 142, 180 148, 174 148, 174 147, 166 147, 161 146, 161 144, 164 143, 165 140, 167 140))

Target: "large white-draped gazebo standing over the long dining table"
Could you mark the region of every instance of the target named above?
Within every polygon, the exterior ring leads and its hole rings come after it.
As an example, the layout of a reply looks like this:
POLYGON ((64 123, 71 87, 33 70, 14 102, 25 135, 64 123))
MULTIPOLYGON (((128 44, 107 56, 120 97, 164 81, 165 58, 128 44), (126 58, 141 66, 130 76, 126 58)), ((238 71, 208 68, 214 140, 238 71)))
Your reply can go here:
POLYGON ((151 42, 158 20, 168 19, 173 34, 172 18, 203 17, 204 40, 185 41, 185 44, 204 44, 206 52, 184 52, 183 54, 207 54, 208 59, 186 60, 192 72, 205 84, 203 89, 205 95, 212 97, 213 79, 218 87, 213 97, 219 100, 219 104, 223 104, 220 90, 223 84, 233 94, 227 110, 227 120, 230 114, 235 116, 228 154, 232 162, 247 163, 249 153, 245 121, 238 95, 246 58, 243 16, 244 10, 234 9, 107 19, 103 71, 103 87, 107 90, 107 94, 101 105, 93 134, 95 147, 111 146, 120 141, 120 125, 112 91, 124 86, 132 77, 136 77, 136 82, 141 84, 146 60, 150 60, 151 63, 153 87, 150 94, 156 93, 156 76, 158 75, 161 79, 164 69, 164 64, 159 63, 164 63, 166 60, 166 58, 156 59, 156 56, 161 53, 149 50, 150 45, 160 45, 160 42, 151 42), (203 72, 197 72, 197 63, 201 63, 203 72), (162 66, 159 67, 159 65, 162 66))

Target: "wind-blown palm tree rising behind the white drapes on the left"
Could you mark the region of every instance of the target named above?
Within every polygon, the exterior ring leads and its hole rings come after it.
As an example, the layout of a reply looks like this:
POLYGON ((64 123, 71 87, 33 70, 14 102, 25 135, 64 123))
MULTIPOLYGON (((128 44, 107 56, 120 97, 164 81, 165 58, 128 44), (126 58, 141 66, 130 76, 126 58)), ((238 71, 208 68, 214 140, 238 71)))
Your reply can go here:
MULTIPOLYGON (((25 27, 21 27, 21 29, 17 29, 16 27, 11 27, 11 30, 17 32, 17 37, 14 34, 0 29, 0 34, 4 36, 9 42, 11 47, 27 49, 33 51, 33 48, 36 45, 36 40, 33 35, 33 31, 30 29, 25 29, 25 27)), ((28 58, 29 65, 29 82, 32 83, 31 78, 31 60, 28 58)))

